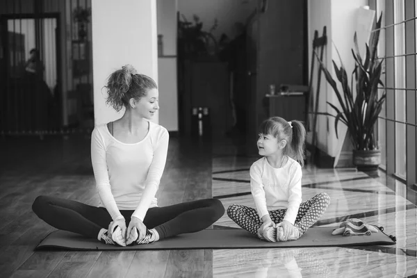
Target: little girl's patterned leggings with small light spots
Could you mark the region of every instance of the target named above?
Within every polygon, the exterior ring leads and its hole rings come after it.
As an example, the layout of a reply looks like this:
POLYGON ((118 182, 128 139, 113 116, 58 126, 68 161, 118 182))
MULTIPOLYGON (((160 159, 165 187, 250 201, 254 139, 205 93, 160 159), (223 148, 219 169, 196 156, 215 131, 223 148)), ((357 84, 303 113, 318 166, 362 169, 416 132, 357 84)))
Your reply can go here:
MULTIPOLYGON (((327 206, 329 206, 330 197, 326 193, 318 193, 304 203, 300 204, 297 218, 295 218, 294 226, 300 230, 300 236, 305 233, 309 227, 325 213, 327 206)), ((276 224, 284 220, 286 209, 278 209, 277 211, 269 211, 272 221, 276 224)), ((256 208, 249 208, 240 204, 232 204, 227 208, 227 215, 231 220, 234 220, 243 229, 256 234, 262 225, 262 220, 259 218, 256 208)))

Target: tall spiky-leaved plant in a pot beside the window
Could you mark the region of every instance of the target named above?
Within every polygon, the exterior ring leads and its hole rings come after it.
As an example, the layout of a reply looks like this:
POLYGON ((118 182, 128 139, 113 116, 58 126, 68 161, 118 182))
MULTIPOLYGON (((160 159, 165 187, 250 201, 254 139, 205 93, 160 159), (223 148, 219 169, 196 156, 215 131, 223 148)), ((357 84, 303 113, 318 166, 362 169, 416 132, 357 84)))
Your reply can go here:
MULTIPOLYGON (((375 171, 381 163, 381 152, 375 138, 374 130, 378 115, 382 111, 382 105, 386 99, 384 89, 382 95, 380 97, 378 96, 378 90, 384 88, 384 83, 381 81, 382 63, 384 59, 377 57, 381 19, 382 13, 375 24, 375 30, 370 35, 369 45, 366 44, 366 56, 364 59, 359 53, 357 33, 354 33, 355 49, 352 49, 352 56, 355 67, 352 72, 350 85, 340 54, 338 54, 339 60, 341 60, 340 67, 336 65, 334 60, 332 61, 334 72, 340 82, 342 91, 338 90, 336 81, 334 81, 324 63, 318 58, 322 72, 324 72, 327 82, 336 93, 338 104, 341 107, 338 108, 334 104, 327 102, 334 109, 336 115, 330 113, 318 114, 335 117, 334 128, 336 129, 336 137, 338 137, 338 122, 343 122, 347 126, 350 140, 354 147, 353 163, 361 171, 375 171), (354 89, 356 90, 356 95, 354 95, 354 89)), ((317 54, 316 56, 318 57, 317 54)))

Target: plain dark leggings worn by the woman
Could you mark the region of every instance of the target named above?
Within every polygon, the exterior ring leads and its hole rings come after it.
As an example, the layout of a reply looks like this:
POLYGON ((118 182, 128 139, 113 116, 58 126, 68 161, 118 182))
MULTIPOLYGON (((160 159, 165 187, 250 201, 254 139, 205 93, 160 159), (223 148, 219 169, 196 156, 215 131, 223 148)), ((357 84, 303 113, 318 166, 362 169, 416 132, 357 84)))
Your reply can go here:
MULTIPOLYGON (((56 229, 97 238, 99 231, 108 229, 112 218, 106 208, 90 206, 69 199, 39 196, 32 205, 33 212, 56 229)), ((120 211, 129 226, 133 210, 120 211)), ((149 208, 143 224, 156 229, 159 238, 194 233, 206 229, 224 214, 218 199, 200 199, 192 202, 149 208)))

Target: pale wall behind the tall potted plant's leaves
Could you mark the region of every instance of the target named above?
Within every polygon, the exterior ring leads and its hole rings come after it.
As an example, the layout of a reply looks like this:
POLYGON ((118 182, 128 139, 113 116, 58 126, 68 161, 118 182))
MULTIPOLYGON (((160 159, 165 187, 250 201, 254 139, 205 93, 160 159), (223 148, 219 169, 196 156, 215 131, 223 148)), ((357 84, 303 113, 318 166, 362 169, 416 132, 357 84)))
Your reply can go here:
MULTIPOLYGON (((331 70, 333 78, 337 81, 334 74, 332 59, 335 60, 337 65, 340 65, 338 54, 335 46, 338 49, 343 64, 345 65, 348 78, 350 80, 352 70, 354 69, 354 59, 352 57, 351 49, 354 47, 354 32, 359 31, 360 40, 359 44, 363 44, 363 40, 366 40, 366 30, 363 29, 359 22, 359 8, 361 6, 368 5, 368 0, 320 0, 320 1, 308 1, 309 2, 309 63, 311 63, 311 51, 314 31, 318 30, 319 35, 322 34, 322 27, 327 26, 327 54, 325 55, 325 63, 327 69, 331 70)), ((362 23, 362 22, 361 22, 362 23)), ((326 52, 325 52, 326 53, 326 52)), ((317 65, 317 63, 316 63, 317 65)), ((309 65, 311 67, 311 65, 309 65)), ((316 67, 317 69, 318 67, 316 67)), ((310 69, 311 70, 311 69, 310 69)), ((317 82, 317 74, 313 76, 313 84, 317 82)), ((350 83, 350 82, 349 82, 350 83)), ((316 89, 316 86, 313 87, 316 89)), ((314 92, 316 93, 316 92, 314 92)), ((330 85, 325 81, 325 76, 322 75, 322 83, 320 86, 320 100, 318 111, 329 112, 334 114, 334 110, 326 104, 326 101, 332 104, 337 104, 338 99, 330 85)), ((334 130, 334 118, 325 116, 318 116, 318 147, 322 151, 326 152, 330 156, 338 158, 343 147, 345 140, 345 133, 347 128, 339 123, 338 135, 336 138, 336 132, 334 130), (328 129, 327 129, 328 120, 328 129)), ((347 138, 348 139, 348 138, 347 138)), ((336 159, 337 163, 337 159, 336 159)))

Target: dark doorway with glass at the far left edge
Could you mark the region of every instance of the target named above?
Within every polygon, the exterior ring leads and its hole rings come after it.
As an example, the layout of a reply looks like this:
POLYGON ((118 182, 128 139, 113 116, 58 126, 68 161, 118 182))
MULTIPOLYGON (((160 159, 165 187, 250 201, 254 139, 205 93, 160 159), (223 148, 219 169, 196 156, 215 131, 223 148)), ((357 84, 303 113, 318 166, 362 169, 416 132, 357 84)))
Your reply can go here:
POLYGON ((1 133, 44 133, 59 128, 58 38, 58 13, 2 16, 1 133))

